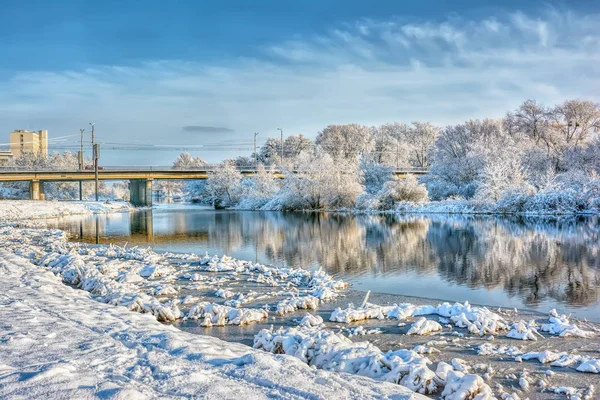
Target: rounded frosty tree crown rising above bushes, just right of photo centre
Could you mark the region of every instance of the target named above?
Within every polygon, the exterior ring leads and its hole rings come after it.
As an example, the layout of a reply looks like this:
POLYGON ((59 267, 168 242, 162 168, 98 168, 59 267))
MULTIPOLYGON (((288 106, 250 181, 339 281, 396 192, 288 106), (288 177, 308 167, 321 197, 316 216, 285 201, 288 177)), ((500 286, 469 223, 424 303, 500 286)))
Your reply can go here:
POLYGON ((358 160, 373 150, 375 138, 371 128, 358 124, 329 125, 317 135, 315 143, 334 161, 358 160))

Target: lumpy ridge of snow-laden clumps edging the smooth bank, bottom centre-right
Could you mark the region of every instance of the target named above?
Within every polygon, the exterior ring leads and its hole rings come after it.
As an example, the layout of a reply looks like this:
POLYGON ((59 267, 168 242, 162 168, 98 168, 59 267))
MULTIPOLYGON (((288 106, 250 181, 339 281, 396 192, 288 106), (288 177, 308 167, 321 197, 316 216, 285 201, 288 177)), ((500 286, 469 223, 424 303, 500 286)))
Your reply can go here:
MULTIPOLYGON (((425 324, 422 322, 421 326, 425 324)), ((433 394, 443 388, 443 399, 493 398, 491 388, 481 377, 461 372, 469 368, 462 360, 452 360, 453 366, 446 364, 449 369, 444 369, 440 363, 434 372, 428 367, 431 361, 417 351, 399 349, 383 353, 369 342, 352 342, 318 326, 301 323, 298 327, 263 329, 255 336, 254 347, 269 353, 292 355, 318 369, 400 383, 418 393, 433 394)), ((433 350, 427 352, 435 353, 433 350)))

